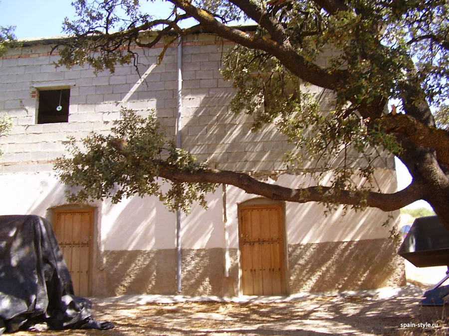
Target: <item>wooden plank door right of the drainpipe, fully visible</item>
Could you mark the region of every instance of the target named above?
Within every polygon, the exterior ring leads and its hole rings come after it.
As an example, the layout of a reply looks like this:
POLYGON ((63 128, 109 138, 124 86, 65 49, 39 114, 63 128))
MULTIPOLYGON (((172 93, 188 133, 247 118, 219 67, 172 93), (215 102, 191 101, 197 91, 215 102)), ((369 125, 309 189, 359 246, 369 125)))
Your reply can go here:
POLYGON ((243 295, 287 294, 281 205, 239 207, 243 295))

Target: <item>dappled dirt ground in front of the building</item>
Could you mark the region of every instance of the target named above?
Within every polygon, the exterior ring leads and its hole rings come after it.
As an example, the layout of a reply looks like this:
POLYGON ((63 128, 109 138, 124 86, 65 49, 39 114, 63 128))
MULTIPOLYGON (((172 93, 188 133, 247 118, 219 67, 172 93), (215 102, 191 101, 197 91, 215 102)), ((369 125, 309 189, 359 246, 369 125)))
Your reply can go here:
POLYGON ((115 323, 114 329, 55 332, 42 331, 39 329, 43 326, 37 326, 35 331, 14 335, 449 335, 442 321, 430 328, 411 325, 435 323, 441 314, 431 309, 423 315, 419 306, 421 295, 417 287, 409 286, 393 297, 382 292, 353 293, 285 298, 283 302, 269 303, 261 303, 258 298, 238 303, 173 302, 177 297, 164 296, 94 299, 93 316, 115 323))

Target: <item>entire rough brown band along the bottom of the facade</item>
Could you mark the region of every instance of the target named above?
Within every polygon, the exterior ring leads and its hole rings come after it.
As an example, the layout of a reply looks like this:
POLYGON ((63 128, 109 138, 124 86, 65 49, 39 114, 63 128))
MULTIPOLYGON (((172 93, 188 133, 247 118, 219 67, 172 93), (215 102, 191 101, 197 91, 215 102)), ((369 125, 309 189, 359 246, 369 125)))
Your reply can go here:
MULTIPOLYGON (((289 294, 403 286, 404 261, 397 249, 390 239, 288 245, 289 294)), ((224 249, 183 249, 181 294, 237 296, 237 249, 229 254, 225 277, 224 249)), ((177 294, 175 249, 105 251, 103 256, 106 295, 177 294)))

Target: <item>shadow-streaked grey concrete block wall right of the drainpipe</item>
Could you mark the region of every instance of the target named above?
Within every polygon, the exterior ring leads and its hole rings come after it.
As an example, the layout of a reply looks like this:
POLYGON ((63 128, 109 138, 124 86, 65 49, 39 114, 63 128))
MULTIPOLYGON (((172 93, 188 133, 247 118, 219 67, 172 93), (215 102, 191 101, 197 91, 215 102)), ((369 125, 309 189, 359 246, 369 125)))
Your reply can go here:
POLYGON ((259 132, 251 132, 252 118, 230 111, 234 90, 219 71, 230 44, 212 37, 209 45, 195 42, 192 36, 183 51, 183 146, 213 168, 283 169, 287 143, 275 127, 267 125, 259 132))

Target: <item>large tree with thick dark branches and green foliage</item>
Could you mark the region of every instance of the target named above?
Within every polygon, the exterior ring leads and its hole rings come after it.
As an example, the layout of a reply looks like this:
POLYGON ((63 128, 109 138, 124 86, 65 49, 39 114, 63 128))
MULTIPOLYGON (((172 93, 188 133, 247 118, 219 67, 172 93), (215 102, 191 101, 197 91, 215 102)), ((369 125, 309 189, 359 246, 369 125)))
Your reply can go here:
MULTIPOLYGON (((430 109, 442 105, 449 93, 448 1, 167 3, 173 8, 170 16, 155 18, 142 13, 137 0, 75 1, 79 18, 65 22, 65 31, 74 37, 59 50, 59 64, 89 64, 96 71, 113 72, 117 63, 138 62, 134 45, 168 47, 195 31, 230 40, 234 47, 225 55, 223 75, 236 89, 232 109, 251 114, 254 129, 276 123, 296 146, 286 155, 290 169, 309 173, 306 164, 315 160, 320 162, 315 172, 333 170, 334 179, 330 185, 290 189, 203 166, 191 171, 171 166, 168 174, 158 161, 159 176, 165 174, 176 183, 230 183, 274 199, 356 208, 393 210, 424 199, 449 225, 449 133, 444 122, 435 122, 430 109), (197 24, 186 28, 183 22, 189 18, 197 24), (235 19, 254 22, 255 28, 229 26, 235 19), (332 103, 323 99, 329 95, 332 103), (391 99, 399 104, 388 112, 391 99), (258 108, 261 105, 265 108, 258 108), (383 194, 373 189, 375 160, 386 152, 397 155, 413 177, 404 191, 383 194)), ((440 111, 446 116, 447 109, 440 111)), ((103 138, 97 142, 108 143, 103 138)), ((87 160, 89 153, 78 158, 87 160)), ((65 174, 73 169, 62 167, 65 174)), ((128 173, 127 183, 132 174, 128 173)), ((82 184, 82 178, 70 182, 82 184)), ((125 175, 116 178, 121 181, 125 175)), ((100 176, 97 183, 101 181, 100 176)), ((104 197, 111 187, 104 184, 104 192, 91 196, 104 197)), ((129 188, 133 190, 131 184, 129 188)))

